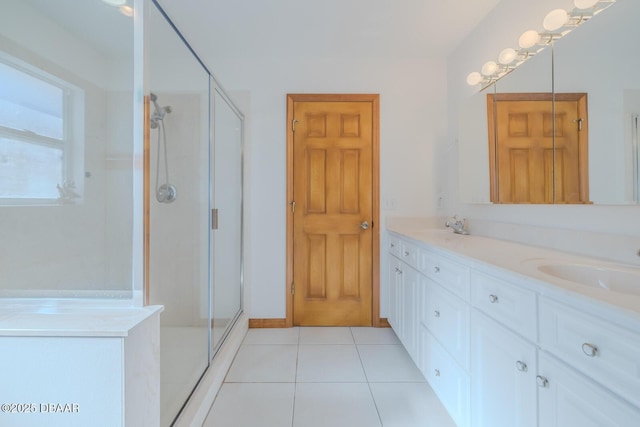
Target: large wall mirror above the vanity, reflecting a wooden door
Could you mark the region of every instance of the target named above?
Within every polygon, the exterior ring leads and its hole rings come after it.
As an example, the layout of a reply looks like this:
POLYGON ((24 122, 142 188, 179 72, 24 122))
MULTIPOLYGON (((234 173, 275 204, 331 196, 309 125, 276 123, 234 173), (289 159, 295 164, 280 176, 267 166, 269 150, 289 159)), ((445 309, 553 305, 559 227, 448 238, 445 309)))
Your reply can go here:
POLYGON ((468 100, 460 113, 461 202, 639 202, 640 54, 629 48, 632 41, 640 40, 640 26, 634 23, 637 16, 640 2, 618 0, 602 14, 555 41, 553 49, 545 49, 468 100), (499 123, 503 114, 498 111, 501 104, 492 107, 488 98, 507 101, 514 94, 538 99, 541 106, 538 125, 514 120, 518 114, 511 115, 510 129, 505 127, 504 120, 499 123), (556 100, 553 106, 546 100, 551 94, 556 100), (551 108, 555 116, 549 115, 551 108), (492 122, 493 119, 496 121, 492 122), (497 154, 500 148, 490 145, 489 140, 509 136, 509 132, 517 134, 518 126, 521 130, 525 126, 530 131, 539 131, 548 145, 541 150, 537 162, 518 157, 521 151, 517 146, 507 148, 512 155, 503 169, 529 168, 528 176, 540 176, 540 183, 536 184, 540 196, 535 200, 513 191, 526 188, 531 182, 523 184, 517 182, 521 178, 509 176, 496 180, 494 176, 500 166, 496 160, 500 158, 497 154), (563 146, 570 133, 575 133, 573 151, 563 146), (534 164, 538 166, 534 168, 534 164), (502 183, 500 188, 495 188, 496 182, 502 183), (502 192, 510 193, 509 197, 502 192))

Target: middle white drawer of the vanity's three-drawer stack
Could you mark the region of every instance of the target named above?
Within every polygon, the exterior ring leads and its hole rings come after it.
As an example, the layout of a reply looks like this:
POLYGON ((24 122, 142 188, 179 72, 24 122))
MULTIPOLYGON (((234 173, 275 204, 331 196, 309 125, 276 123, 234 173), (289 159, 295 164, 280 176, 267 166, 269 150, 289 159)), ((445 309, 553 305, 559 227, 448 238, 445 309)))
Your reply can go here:
POLYGON ((469 304, 424 279, 420 322, 464 368, 469 369, 469 304))

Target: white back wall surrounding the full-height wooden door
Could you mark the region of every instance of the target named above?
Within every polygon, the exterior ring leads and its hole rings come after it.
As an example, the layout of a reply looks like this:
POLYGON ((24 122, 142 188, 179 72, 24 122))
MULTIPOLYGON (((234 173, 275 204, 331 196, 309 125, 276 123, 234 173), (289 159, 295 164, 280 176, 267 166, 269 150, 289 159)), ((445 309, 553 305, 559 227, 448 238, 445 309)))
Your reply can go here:
MULTIPOLYGON (((244 95, 241 107, 247 98, 250 102, 245 134, 245 310, 250 318, 286 315, 287 93, 379 93, 381 199, 383 206, 395 205, 382 209, 380 225, 386 215, 435 214, 434 164, 446 120, 443 60, 203 56, 232 95, 244 95)), ((384 281, 382 286, 385 316, 384 281)))

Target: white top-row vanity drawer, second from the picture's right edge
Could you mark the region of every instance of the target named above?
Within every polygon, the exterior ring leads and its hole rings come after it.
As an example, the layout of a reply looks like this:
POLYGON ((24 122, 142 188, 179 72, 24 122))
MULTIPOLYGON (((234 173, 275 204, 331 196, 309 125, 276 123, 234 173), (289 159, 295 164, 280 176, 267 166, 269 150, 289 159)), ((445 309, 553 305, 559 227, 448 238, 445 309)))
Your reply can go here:
POLYGON ((474 271, 471 303, 528 340, 537 341, 535 292, 474 271))

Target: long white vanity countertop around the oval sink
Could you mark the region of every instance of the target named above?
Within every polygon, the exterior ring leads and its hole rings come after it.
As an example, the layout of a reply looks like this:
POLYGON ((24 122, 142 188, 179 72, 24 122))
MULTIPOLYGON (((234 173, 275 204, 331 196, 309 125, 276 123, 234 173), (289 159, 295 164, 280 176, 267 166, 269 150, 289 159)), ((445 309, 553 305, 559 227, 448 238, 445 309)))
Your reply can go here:
MULTIPOLYGON (((638 267, 483 236, 454 234, 450 229, 424 228, 413 221, 394 221, 387 225, 387 230, 425 243, 445 255, 449 253, 465 258, 470 266, 479 270, 488 271, 489 267, 493 273, 499 271, 515 277, 519 284, 541 295, 588 304, 599 315, 640 331, 640 295, 578 284, 538 269, 541 264, 593 265, 638 274, 640 277, 638 267)), ((637 286, 640 288, 640 281, 637 286)))

